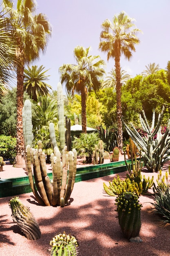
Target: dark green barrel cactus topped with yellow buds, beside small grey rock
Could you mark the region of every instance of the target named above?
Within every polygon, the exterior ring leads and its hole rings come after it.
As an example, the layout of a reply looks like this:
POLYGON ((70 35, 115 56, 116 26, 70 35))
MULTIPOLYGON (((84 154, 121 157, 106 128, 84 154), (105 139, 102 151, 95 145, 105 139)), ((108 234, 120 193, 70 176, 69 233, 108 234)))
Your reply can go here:
POLYGON ((139 236, 141 207, 136 193, 124 192, 116 198, 119 225, 126 238, 139 236))

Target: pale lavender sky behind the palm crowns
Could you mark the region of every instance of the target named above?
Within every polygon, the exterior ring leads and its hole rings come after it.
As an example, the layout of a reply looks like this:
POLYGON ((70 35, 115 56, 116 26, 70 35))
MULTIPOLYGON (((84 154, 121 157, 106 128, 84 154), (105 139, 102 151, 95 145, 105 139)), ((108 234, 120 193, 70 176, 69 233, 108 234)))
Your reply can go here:
POLYGON ((101 24, 112 20, 120 11, 135 18, 141 43, 130 61, 121 58, 121 67, 132 77, 140 74, 149 63, 165 69, 170 61, 170 0, 37 0, 37 13, 45 13, 52 25, 52 37, 45 55, 33 65, 50 69, 48 83, 57 90, 59 67, 75 63, 73 49, 77 45, 91 46, 92 55, 100 55, 106 62, 106 72, 114 67, 106 54, 99 51, 101 24))

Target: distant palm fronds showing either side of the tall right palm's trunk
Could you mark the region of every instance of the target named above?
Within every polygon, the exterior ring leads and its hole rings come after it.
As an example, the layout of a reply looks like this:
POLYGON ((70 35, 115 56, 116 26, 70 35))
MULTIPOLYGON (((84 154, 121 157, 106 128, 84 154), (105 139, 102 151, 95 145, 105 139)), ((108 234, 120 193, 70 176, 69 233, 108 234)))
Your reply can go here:
MULTIPOLYGON (((130 79, 130 75, 129 74, 125 74, 126 71, 121 70, 120 74, 121 74, 121 84, 125 85, 126 81, 128 81, 130 79)), ((114 88, 116 87, 116 72, 115 70, 112 68, 110 72, 108 72, 108 74, 110 74, 110 76, 106 76, 106 80, 104 81, 104 83, 102 84, 102 88, 114 88)))

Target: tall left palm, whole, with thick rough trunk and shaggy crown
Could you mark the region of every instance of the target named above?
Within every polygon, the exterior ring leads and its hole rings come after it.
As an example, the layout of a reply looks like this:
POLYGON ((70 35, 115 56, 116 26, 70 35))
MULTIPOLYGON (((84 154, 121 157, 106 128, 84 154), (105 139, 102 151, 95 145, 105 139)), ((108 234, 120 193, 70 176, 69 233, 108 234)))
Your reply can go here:
POLYGON ((15 69, 17 74, 17 156, 16 167, 25 166, 24 140, 22 131, 24 67, 39 58, 40 50, 46 49, 51 26, 46 15, 35 14, 35 0, 18 0, 14 9, 12 0, 2 0, 10 16, 10 31, 15 49, 15 69))

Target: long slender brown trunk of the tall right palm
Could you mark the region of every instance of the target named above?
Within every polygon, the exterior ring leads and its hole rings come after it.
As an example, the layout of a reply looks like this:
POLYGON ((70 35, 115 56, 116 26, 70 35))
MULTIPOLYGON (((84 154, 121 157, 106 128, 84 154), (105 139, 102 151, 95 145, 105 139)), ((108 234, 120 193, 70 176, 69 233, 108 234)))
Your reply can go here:
POLYGON ((122 130, 122 109, 121 109, 121 72, 120 72, 120 54, 115 56, 115 72, 116 72, 116 108, 117 108, 117 143, 121 153, 123 153, 123 130, 122 130))

